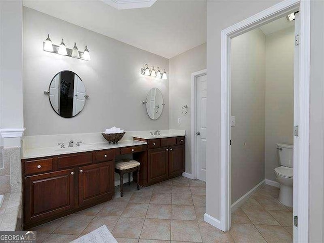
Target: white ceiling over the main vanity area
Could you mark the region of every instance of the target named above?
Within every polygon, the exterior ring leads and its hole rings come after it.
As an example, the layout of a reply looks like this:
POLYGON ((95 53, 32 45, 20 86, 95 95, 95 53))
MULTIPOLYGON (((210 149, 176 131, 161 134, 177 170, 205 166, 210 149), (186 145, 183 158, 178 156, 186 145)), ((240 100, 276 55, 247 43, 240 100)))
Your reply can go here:
POLYGON ((172 58, 206 43, 206 0, 157 0, 118 10, 101 0, 23 0, 25 7, 172 58))

